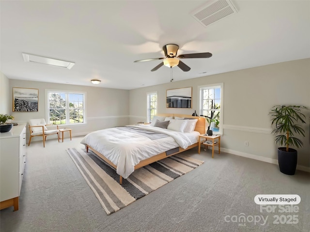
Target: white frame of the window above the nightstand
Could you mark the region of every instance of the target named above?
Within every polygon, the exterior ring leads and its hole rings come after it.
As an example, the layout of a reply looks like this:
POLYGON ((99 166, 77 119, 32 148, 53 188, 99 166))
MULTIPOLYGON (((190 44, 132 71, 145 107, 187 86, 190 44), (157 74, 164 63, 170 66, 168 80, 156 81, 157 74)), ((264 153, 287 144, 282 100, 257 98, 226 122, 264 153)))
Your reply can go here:
POLYGON ((223 110, 224 110, 224 83, 215 83, 215 84, 209 84, 209 85, 203 85, 198 86, 198 109, 199 109, 199 115, 202 115, 203 110, 203 94, 202 90, 204 89, 214 89, 214 88, 220 88, 220 109, 218 110, 220 112, 219 114, 219 131, 216 131, 215 134, 222 135, 223 134, 223 110))

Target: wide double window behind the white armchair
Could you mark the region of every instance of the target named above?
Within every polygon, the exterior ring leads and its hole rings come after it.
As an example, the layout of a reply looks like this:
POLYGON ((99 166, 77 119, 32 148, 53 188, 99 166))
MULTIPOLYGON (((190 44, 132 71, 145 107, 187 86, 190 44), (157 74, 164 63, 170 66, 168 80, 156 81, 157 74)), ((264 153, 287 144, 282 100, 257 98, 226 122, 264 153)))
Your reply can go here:
POLYGON ((85 123, 85 93, 47 90, 47 123, 85 123))

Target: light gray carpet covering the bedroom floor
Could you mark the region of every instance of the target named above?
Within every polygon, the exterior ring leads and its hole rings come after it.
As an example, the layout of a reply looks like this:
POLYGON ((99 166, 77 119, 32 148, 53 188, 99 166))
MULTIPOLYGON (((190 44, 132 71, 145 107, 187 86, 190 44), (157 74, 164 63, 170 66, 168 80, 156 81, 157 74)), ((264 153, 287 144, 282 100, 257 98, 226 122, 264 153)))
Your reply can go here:
POLYGON ((106 215, 65 149, 80 147, 81 137, 31 142, 19 210, 0 211, 1 232, 309 232, 310 174, 279 172, 274 164, 211 150, 183 154, 204 164, 158 188, 122 210, 106 215), (297 224, 273 224, 260 212, 257 194, 298 194, 297 224), (226 216, 263 215, 267 223, 226 222, 226 216))

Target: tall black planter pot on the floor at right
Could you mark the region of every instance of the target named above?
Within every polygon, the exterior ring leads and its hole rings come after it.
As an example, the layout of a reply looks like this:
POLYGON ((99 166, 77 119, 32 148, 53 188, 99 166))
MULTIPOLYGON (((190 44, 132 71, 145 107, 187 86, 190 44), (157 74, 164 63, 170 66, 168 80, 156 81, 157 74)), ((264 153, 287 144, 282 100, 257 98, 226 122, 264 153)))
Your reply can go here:
POLYGON ((294 175, 297 166, 297 151, 293 148, 289 148, 287 152, 286 147, 279 147, 278 162, 281 173, 294 175))

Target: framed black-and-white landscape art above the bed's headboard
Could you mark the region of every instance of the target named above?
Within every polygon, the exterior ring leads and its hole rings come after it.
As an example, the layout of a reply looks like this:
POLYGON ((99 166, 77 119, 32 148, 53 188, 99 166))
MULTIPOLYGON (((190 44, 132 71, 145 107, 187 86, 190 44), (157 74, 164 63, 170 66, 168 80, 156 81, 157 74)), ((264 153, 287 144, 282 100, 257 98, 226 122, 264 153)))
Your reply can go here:
POLYGON ((192 108, 192 87, 167 89, 167 108, 192 108))

